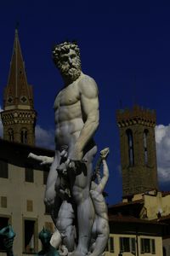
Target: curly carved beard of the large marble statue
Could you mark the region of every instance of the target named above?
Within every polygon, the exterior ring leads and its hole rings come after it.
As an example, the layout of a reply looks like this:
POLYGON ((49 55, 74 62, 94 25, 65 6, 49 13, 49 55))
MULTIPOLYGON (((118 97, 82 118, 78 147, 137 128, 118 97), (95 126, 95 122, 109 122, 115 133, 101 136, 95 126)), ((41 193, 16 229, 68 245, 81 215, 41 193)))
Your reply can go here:
POLYGON ((60 73, 65 79, 70 79, 71 81, 75 81, 79 78, 81 74, 81 67, 80 65, 68 65, 68 66, 61 66, 60 73))

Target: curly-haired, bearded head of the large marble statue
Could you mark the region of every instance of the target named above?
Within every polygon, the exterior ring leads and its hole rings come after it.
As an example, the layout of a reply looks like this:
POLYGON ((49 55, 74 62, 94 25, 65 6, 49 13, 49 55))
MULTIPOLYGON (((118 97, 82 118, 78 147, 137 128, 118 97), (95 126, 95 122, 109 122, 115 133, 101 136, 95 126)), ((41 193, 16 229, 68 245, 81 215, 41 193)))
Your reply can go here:
POLYGON ((64 42, 55 45, 53 59, 65 79, 75 81, 80 76, 80 49, 78 48, 77 42, 64 42))

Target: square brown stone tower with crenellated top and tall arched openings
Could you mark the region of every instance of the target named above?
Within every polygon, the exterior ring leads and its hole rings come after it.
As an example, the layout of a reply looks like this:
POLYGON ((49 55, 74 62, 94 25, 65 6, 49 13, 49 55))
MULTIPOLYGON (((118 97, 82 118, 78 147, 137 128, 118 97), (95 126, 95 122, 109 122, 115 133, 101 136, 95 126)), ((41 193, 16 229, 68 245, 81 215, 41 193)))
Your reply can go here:
POLYGON ((156 166, 156 112, 134 106, 118 110, 123 198, 158 189, 156 166))

